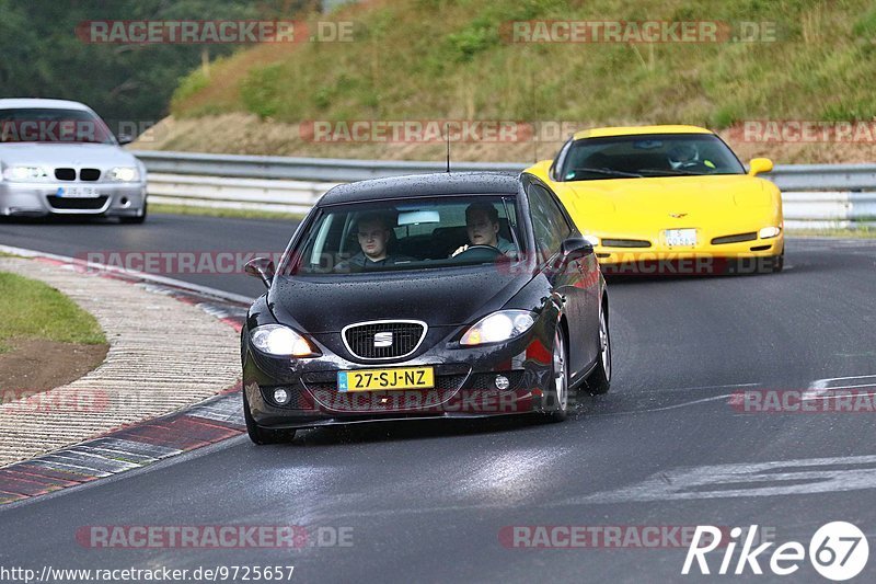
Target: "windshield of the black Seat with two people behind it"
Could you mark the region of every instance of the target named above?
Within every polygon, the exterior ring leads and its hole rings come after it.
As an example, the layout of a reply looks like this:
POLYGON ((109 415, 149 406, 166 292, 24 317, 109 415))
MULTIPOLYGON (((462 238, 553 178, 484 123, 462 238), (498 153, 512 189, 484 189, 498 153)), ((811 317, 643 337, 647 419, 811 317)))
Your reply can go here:
POLYGON ((327 206, 283 274, 339 275, 511 262, 520 254, 514 196, 472 195, 327 206))

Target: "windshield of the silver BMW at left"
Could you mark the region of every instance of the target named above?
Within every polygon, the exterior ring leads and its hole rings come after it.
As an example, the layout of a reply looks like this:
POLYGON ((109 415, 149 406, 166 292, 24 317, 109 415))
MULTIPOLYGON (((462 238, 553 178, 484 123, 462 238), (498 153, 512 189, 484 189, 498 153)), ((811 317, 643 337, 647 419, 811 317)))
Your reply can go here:
POLYGON ((85 110, 0 110, 0 142, 116 144, 103 121, 85 110))

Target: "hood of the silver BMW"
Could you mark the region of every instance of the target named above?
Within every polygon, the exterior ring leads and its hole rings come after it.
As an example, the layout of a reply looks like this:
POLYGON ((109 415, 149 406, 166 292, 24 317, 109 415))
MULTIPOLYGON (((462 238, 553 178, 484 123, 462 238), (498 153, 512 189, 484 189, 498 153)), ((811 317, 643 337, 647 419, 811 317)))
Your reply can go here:
POLYGON ((0 144, 0 162, 11 164, 45 164, 51 167, 137 167, 137 159, 115 145, 108 144, 0 144))

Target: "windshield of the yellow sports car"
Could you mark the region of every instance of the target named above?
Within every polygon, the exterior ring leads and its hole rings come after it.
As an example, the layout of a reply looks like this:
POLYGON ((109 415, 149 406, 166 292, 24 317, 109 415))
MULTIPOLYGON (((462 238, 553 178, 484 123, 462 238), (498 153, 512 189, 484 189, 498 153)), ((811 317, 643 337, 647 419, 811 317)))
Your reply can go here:
POLYGON ((558 181, 744 174, 733 151, 712 134, 654 134, 585 138, 556 169, 558 181))

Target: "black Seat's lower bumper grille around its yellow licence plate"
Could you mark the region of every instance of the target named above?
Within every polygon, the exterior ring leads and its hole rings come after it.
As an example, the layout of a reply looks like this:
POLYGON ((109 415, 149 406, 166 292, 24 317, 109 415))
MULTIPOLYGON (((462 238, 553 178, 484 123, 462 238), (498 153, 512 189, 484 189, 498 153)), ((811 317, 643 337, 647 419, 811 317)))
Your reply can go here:
POLYGON ((433 389, 338 391, 337 382, 327 381, 304 381, 304 387, 325 409, 368 414, 437 408, 453 397, 464 380, 464 375, 436 375, 433 389))

